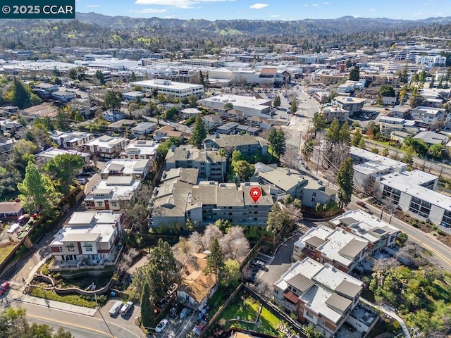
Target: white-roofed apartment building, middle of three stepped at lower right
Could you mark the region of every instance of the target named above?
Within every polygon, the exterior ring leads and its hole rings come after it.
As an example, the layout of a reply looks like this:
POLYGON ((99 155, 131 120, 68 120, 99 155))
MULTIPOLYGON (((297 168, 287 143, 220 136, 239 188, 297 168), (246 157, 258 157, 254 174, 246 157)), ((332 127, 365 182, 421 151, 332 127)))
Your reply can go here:
POLYGON ((309 257, 350 273, 362 262, 368 246, 368 240, 351 232, 320 225, 311 228, 297 240, 293 246, 292 259, 302 261, 309 257))

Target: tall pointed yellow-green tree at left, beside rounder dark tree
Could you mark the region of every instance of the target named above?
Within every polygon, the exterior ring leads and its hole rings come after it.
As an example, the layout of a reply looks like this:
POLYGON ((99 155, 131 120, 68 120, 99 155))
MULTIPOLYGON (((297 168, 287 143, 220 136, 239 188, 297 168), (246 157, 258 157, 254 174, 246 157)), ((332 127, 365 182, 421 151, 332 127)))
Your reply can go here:
POLYGON ((23 207, 30 213, 36 211, 47 213, 56 202, 56 192, 51 180, 41 175, 32 161, 28 162, 25 178, 22 183, 17 184, 17 187, 23 207))

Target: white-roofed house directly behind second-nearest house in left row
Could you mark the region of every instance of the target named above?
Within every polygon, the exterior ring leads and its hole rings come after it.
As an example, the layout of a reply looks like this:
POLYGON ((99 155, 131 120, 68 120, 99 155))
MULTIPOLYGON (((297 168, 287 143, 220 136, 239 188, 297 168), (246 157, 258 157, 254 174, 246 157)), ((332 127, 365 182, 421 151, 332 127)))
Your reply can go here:
POLYGON ((102 180, 106 180, 111 176, 131 176, 135 181, 144 180, 149 173, 148 162, 149 160, 115 158, 105 164, 100 172, 100 177, 102 180))

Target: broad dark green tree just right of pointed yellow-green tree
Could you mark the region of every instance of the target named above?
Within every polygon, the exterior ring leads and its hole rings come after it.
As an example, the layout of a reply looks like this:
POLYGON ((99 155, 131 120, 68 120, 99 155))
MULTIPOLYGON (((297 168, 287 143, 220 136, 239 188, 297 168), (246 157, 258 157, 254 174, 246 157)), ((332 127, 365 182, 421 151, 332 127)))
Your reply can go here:
POLYGON ((59 192, 66 194, 75 175, 83 168, 85 161, 82 156, 63 154, 51 158, 43 166, 43 170, 56 182, 59 192))

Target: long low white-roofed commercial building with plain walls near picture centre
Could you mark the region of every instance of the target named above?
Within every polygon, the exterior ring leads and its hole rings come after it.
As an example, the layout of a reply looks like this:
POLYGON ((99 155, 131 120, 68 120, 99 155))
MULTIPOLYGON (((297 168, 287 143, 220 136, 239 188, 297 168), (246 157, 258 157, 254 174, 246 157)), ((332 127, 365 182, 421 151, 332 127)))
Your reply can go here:
POLYGON ((218 113, 225 113, 230 108, 226 104, 231 104, 234 109, 242 111, 245 117, 261 116, 271 111, 271 100, 262 99, 260 96, 240 96, 222 94, 211 96, 206 99, 199 100, 202 106, 212 108, 218 113))

